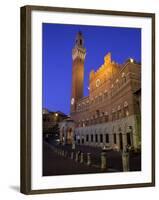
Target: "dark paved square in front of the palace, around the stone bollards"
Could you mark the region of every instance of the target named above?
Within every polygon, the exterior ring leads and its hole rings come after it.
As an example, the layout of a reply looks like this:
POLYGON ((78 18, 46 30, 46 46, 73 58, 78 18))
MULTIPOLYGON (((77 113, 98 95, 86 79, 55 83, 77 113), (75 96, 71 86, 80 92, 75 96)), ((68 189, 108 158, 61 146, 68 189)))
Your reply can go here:
MULTIPOLYGON (((90 147, 83 145, 76 145, 72 149, 72 145, 59 145, 52 140, 44 142, 43 145, 43 175, 67 175, 67 174, 83 174, 83 173, 100 173, 100 172, 121 172, 122 156, 121 152, 112 150, 106 151, 107 170, 101 171, 101 152, 102 149, 98 147, 90 147), (54 149, 67 152, 67 155, 62 156, 55 153, 54 149), (84 163, 75 162, 71 160, 71 152, 74 156, 77 152, 84 153, 84 163), (87 166, 87 153, 91 154, 91 166, 87 166)), ((141 156, 140 153, 130 153, 130 171, 141 170, 141 156)))

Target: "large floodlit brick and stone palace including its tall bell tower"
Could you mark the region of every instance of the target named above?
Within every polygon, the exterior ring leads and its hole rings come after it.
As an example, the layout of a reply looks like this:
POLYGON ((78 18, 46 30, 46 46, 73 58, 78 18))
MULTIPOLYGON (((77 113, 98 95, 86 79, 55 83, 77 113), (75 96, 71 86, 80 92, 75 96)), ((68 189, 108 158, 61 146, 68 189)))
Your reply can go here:
POLYGON ((132 58, 117 64, 108 53, 103 65, 90 72, 89 95, 84 97, 85 56, 84 38, 79 32, 72 51, 72 140, 83 145, 139 149, 141 64, 132 58))

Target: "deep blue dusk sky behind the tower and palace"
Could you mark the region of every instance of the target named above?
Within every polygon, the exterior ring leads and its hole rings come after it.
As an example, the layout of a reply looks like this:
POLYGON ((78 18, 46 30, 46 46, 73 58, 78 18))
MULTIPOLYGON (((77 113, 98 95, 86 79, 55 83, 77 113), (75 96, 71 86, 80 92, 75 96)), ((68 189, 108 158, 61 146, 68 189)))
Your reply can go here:
POLYGON ((84 95, 88 95, 89 72, 98 69, 104 56, 122 64, 132 57, 141 61, 141 29, 46 24, 43 29, 43 108, 70 113, 72 48, 80 30, 85 39, 84 95))

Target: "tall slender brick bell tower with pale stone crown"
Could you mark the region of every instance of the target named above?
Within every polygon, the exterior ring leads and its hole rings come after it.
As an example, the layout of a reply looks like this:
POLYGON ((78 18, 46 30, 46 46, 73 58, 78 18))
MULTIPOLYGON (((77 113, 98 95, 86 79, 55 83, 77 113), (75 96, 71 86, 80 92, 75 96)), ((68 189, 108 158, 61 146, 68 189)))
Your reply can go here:
POLYGON ((84 80, 84 60, 86 49, 84 48, 84 38, 79 31, 76 36, 75 46, 72 49, 72 95, 71 114, 76 111, 76 102, 83 97, 84 80))

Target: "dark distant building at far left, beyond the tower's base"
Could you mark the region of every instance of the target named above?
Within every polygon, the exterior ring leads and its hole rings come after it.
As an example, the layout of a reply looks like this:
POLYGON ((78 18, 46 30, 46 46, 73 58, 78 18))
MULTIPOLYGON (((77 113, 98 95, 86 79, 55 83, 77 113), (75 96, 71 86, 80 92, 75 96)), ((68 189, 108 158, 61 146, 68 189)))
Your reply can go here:
POLYGON ((68 116, 64 113, 57 111, 52 112, 43 109, 43 134, 53 134, 58 130, 59 122, 66 119, 68 116))

